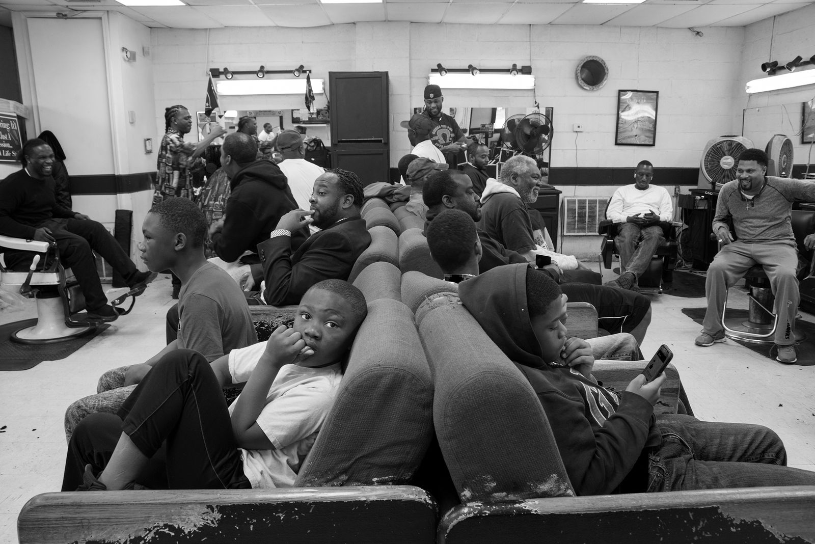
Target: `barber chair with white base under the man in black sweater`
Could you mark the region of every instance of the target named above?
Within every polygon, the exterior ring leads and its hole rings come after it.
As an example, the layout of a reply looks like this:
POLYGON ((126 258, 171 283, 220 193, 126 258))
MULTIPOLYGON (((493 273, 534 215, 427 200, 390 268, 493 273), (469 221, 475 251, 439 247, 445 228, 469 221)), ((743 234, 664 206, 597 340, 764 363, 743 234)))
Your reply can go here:
POLYGON ((56 244, 0 236, 0 257, 7 250, 33 253, 30 265, 24 261, 13 269, 0 259, 0 283, 20 286, 20 295, 37 299, 37 324, 21 327, 11 335, 20 344, 52 344, 85 336, 101 321, 79 314, 85 309, 85 296, 70 269, 59 263, 56 244))

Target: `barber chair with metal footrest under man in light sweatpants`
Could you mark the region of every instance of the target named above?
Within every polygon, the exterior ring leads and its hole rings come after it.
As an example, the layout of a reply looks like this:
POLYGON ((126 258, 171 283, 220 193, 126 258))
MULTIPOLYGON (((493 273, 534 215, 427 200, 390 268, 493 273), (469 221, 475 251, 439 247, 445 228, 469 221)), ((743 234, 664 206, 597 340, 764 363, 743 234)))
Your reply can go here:
MULTIPOLYGON (((798 245, 799 266, 796 270, 799 279, 805 274, 804 265, 813 258, 813 252, 804 247, 804 238, 815 232, 815 211, 794 210, 792 212, 792 232, 798 245)), ((711 235, 715 237, 715 235, 711 235)), ((744 274, 745 287, 749 291, 750 303, 747 309, 747 321, 739 318, 726 318, 727 300, 722 309, 721 320, 725 327, 725 336, 730 340, 739 340, 748 344, 774 344, 775 329, 778 327, 778 314, 773 312, 775 296, 769 284, 767 274, 761 265, 751 266, 744 274)), ((729 294, 729 290, 728 290, 729 294)), ((795 331, 795 341, 804 340, 804 333, 795 331)))

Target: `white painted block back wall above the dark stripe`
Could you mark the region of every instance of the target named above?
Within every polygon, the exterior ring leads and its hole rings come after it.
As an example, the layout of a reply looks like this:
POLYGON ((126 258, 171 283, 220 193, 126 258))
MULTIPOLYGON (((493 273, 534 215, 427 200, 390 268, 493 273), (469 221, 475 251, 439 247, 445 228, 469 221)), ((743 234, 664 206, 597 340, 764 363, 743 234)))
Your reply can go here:
MULTIPOLYGON (((556 166, 628 166, 643 156, 659 166, 695 166, 708 139, 739 128, 731 105, 743 36, 742 28, 705 29, 696 37, 687 29, 403 22, 212 29, 209 37, 205 29, 152 29, 156 118, 161 129, 165 106, 202 105, 207 68, 303 63, 314 70, 312 77, 323 78, 329 71, 383 70, 390 76, 395 166, 410 150, 399 122, 422 105, 430 68, 439 62, 448 68, 531 64, 536 97, 532 91, 449 89, 445 107, 533 107, 535 98, 541 107, 554 107, 556 166), (575 82, 585 55, 599 55, 609 65, 609 81, 596 92, 575 82), (655 147, 615 146, 619 89, 660 91, 655 147), (585 131, 572 132, 574 123, 585 131)), ((264 100, 274 107, 274 97, 264 100)), ((222 102, 228 106, 227 97, 222 102)))

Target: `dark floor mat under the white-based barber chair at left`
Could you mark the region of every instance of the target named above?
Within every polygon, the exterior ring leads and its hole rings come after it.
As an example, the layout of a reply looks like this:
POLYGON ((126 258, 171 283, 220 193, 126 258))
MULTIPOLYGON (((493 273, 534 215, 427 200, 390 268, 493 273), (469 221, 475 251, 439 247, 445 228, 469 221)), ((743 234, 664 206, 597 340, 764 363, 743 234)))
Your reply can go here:
POLYGON ((104 324, 86 336, 56 344, 17 344, 11 341, 11 334, 14 331, 35 324, 37 324, 37 318, 7 323, 0 327, 0 371, 25 371, 43 361, 59 361, 110 327, 104 324))

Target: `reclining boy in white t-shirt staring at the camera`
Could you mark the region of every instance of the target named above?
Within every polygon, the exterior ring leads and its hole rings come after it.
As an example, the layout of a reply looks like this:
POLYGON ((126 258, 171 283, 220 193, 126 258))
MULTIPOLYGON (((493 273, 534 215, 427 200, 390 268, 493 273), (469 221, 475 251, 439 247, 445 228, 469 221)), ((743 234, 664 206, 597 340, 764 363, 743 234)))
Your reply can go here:
POLYGON ((266 343, 211 366, 191 350, 168 354, 118 418, 81 421, 68 445, 63 490, 133 489, 162 444, 170 489, 293 485, 367 313, 359 289, 327 279, 302 297, 293 327, 278 327, 266 343), (241 381, 245 388, 227 409, 222 386, 241 381))

